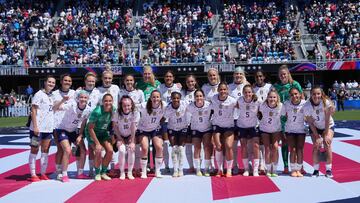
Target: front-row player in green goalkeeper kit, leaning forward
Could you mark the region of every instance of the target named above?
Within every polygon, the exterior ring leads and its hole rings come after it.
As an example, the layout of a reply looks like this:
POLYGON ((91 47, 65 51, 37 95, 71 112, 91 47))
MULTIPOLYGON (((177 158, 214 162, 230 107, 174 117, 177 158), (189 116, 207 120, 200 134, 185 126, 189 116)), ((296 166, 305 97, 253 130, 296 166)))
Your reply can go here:
POLYGON ((85 127, 85 136, 95 153, 95 180, 97 181, 111 180, 106 172, 113 156, 113 146, 108 130, 114 112, 113 101, 111 94, 105 94, 102 98, 102 105, 97 106, 91 112, 85 127), (101 157, 102 148, 105 149, 104 158, 101 157))

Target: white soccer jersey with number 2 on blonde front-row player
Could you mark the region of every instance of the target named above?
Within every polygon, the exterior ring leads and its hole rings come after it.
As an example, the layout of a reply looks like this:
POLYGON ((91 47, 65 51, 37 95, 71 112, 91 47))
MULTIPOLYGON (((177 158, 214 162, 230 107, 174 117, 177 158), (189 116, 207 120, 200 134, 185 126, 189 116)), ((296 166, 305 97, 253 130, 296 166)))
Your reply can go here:
POLYGON ((275 108, 270 108, 266 101, 260 105, 259 111, 262 114, 262 119, 260 120, 259 126, 261 131, 267 133, 275 133, 281 131, 281 108, 281 103, 275 108))

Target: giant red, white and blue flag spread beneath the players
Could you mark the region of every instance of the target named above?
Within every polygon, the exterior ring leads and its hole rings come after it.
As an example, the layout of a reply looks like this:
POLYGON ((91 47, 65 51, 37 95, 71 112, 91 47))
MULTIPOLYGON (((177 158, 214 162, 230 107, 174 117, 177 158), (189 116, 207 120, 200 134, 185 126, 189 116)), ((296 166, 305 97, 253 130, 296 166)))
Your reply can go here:
MULTIPOLYGON (((311 140, 308 137, 304 157, 308 175, 303 178, 236 175, 229 179, 197 177, 194 174, 172 178, 167 174, 162 179, 150 176, 145 180, 94 182, 73 179, 76 166, 75 160, 71 159, 69 183, 54 180, 55 146, 50 149, 52 164, 47 170, 52 180, 29 182, 28 130, 3 128, 0 130, 0 202, 359 202, 359 126, 358 121, 337 122, 333 143, 334 179, 324 175, 317 178, 310 176, 313 168, 311 140)), ((241 163, 240 154, 238 159, 241 163)), ((37 162, 39 164, 39 160, 37 162)), ((324 168, 320 170, 325 172, 324 168)))

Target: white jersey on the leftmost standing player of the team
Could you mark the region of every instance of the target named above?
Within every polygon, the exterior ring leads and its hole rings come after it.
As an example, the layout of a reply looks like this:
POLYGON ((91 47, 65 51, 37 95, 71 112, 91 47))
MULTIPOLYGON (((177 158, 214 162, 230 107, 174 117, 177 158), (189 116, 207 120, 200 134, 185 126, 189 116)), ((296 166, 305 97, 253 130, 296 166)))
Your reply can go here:
MULTIPOLYGON (((36 124, 40 132, 51 133, 54 131, 54 101, 51 94, 39 90, 32 98, 32 105, 37 106, 36 124)), ((34 130, 33 120, 30 123, 30 130, 34 130)))

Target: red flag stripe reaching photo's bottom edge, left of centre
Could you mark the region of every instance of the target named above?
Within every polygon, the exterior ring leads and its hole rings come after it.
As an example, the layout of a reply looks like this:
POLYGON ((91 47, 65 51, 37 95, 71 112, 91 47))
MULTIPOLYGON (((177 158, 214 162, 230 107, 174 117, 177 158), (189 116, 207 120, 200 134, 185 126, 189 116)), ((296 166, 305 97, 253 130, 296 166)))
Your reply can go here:
POLYGON ((76 193, 66 203, 76 202, 137 202, 152 178, 135 180, 113 179, 111 181, 95 181, 76 193))

